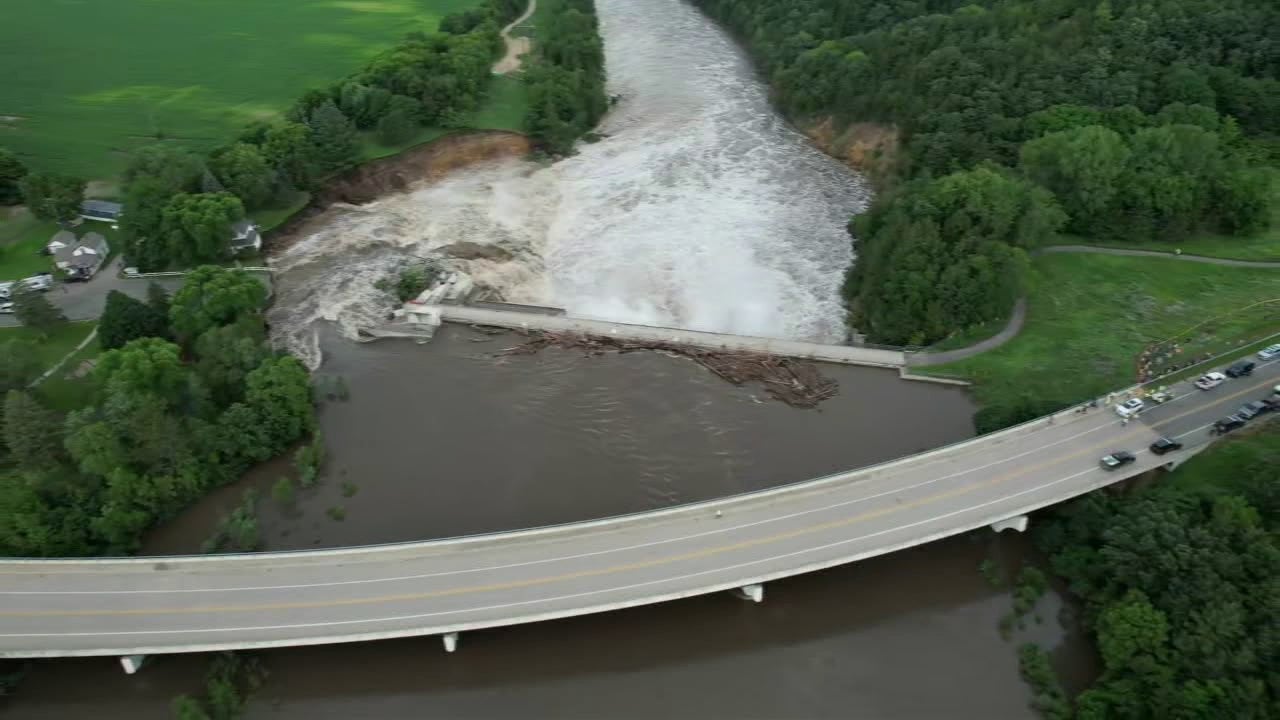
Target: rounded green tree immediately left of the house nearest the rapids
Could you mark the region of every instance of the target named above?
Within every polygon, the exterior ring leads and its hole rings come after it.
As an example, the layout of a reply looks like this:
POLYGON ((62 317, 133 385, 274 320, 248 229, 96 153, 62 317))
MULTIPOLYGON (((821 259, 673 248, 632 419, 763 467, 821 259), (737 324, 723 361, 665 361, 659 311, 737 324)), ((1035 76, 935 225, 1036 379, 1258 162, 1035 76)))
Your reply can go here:
POLYGON ((244 205, 234 195, 175 195, 160 214, 169 264, 193 265, 225 258, 232 224, 243 217, 244 205))

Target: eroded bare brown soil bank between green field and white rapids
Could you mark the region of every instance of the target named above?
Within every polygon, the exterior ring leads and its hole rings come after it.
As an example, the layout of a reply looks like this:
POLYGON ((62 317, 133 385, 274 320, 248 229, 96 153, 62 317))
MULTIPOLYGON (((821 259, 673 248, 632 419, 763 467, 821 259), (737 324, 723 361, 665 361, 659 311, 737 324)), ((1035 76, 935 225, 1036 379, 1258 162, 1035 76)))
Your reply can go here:
POLYGON ((343 173, 315 193, 311 204, 268 238, 268 251, 279 252, 312 231, 317 215, 335 202, 364 205, 406 192, 419 182, 434 182, 467 165, 500 158, 522 158, 532 142, 518 132, 470 131, 419 145, 390 158, 372 160, 343 173))

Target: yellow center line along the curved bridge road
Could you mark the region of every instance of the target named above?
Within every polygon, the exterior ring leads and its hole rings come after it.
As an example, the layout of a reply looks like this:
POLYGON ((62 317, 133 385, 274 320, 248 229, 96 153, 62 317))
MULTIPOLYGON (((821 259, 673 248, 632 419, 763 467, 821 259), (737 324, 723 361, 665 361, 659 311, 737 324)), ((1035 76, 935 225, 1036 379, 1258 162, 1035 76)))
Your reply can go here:
MULTIPOLYGON (((1176 415, 1172 415, 1170 418, 1166 418, 1165 420, 1161 420, 1161 424, 1166 424, 1166 423, 1171 423, 1171 421, 1179 420, 1179 419, 1185 418, 1188 415, 1193 415, 1196 413, 1201 413, 1201 411, 1203 411, 1203 410, 1206 410, 1208 407, 1212 407, 1215 405, 1221 405, 1224 402, 1228 402, 1228 401, 1234 400, 1236 397, 1240 397, 1243 395, 1252 393, 1252 392, 1257 391, 1260 387, 1266 386, 1266 384, 1271 384, 1271 383, 1270 382, 1263 382, 1261 384, 1251 386, 1251 387, 1248 387, 1245 389, 1242 389, 1242 391, 1238 391, 1238 392, 1234 392, 1234 393, 1230 393, 1230 395, 1220 396, 1217 400, 1215 400, 1215 401, 1212 401, 1212 402, 1210 402, 1207 405, 1197 406, 1197 407, 1185 410, 1183 413, 1179 413, 1176 415)), ((1080 455, 1084 455, 1084 454, 1096 454, 1102 447, 1107 447, 1107 446, 1114 447, 1115 445, 1119 445, 1120 442, 1123 442, 1125 439, 1133 439, 1137 436, 1143 434, 1144 432, 1153 432, 1153 429, 1151 427, 1148 427, 1148 425, 1139 425, 1139 427, 1137 427, 1137 428, 1134 428, 1132 430, 1123 432, 1117 437, 1107 438, 1103 442, 1097 442, 1097 443, 1085 446, 1085 447, 1083 447, 1080 450, 1076 450, 1074 452, 1070 452, 1070 454, 1066 454, 1066 455, 1061 455, 1061 456, 1056 456, 1056 457, 1053 457, 1051 460, 1046 460, 1043 462, 1038 462, 1038 464, 1034 464, 1034 465, 1028 465, 1028 466, 1018 468, 1015 470, 1010 470, 1010 471, 1002 473, 1000 475, 995 475, 993 478, 989 478, 989 479, 979 482, 979 483, 955 487, 955 488, 951 488, 948 491, 938 492, 938 493, 929 495, 929 496, 925 496, 925 497, 922 497, 922 498, 918 498, 918 500, 913 500, 913 501, 899 502, 896 505, 892 505, 892 506, 888 506, 888 507, 882 507, 879 510, 870 510, 870 511, 867 511, 867 512, 860 512, 858 515, 852 515, 852 516, 849 516, 849 518, 842 518, 842 519, 838 519, 838 520, 829 520, 827 523, 819 523, 819 524, 815 524, 815 525, 808 525, 808 527, 797 528, 797 529, 794 529, 794 530, 787 530, 787 532, 782 532, 782 533, 774 533, 774 534, 771 534, 771 536, 764 536, 764 537, 759 537, 759 538, 746 539, 746 541, 741 541, 741 542, 736 542, 736 543, 731 543, 731 544, 717 546, 717 547, 708 547, 708 548, 704 548, 704 550, 698 550, 698 551, 691 551, 691 552, 684 552, 684 553, 671 555, 671 556, 666 556, 666 557, 657 557, 657 559, 653 559, 653 560, 645 560, 645 561, 637 561, 637 562, 627 562, 627 564, 622 564, 622 565, 613 565, 613 566, 599 568, 599 569, 593 569, 593 570, 580 570, 580 571, 575 571, 575 573, 562 573, 562 574, 557 574, 557 575, 548 575, 548 577, 544 577, 544 578, 529 578, 529 579, 525 579, 525 580, 508 580, 508 582, 503 582, 503 583, 489 583, 489 584, 481 584, 481 585, 463 585, 463 587, 457 587, 457 588, 447 588, 447 589, 421 592, 421 593, 397 593, 397 594, 358 597, 358 598, 346 598, 346 600, 275 602, 275 603, 256 603, 256 605, 227 605, 227 606, 196 606, 196 607, 157 607, 157 609, 132 607, 132 609, 120 609, 120 610, 29 610, 29 611, 0 611, 0 618, 83 618, 83 616, 138 616, 138 615, 195 615, 195 614, 225 614, 225 612, 264 612, 264 611, 279 611, 279 610, 308 610, 308 609, 321 609, 321 607, 357 606, 357 605, 385 605, 385 603, 392 603, 392 602, 411 602, 411 601, 431 600, 431 598, 440 598, 440 597, 453 597, 453 596, 461 596, 461 594, 476 594, 476 593, 485 593, 485 592, 498 592, 498 591, 520 589, 520 588, 527 588, 527 587, 536 587, 536 585, 547 585, 547 584, 562 583, 562 582, 567 582, 567 580, 576 580, 576 579, 582 579, 582 578, 614 575, 614 574, 627 573, 627 571, 632 571, 632 570, 644 570, 644 569, 648 569, 648 568, 657 568, 657 566, 662 566, 662 565, 672 565, 672 564, 684 562, 684 561, 687 561, 687 560, 698 560, 698 559, 704 559, 704 557, 714 557, 714 556, 718 556, 718 555, 724 555, 724 553, 728 553, 728 552, 735 552, 735 551, 746 550, 746 548, 751 548, 751 547, 759 547, 759 546, 764 546, 764 544, 773 544, 773 543, 778 543, 778 542, 787 541, 787 539, 794 539, 794 538, 808 536, 808 534, 814 534, 814 533, 820 533, 820 532, 824 532, 824 530, 844 528, 844 527, 854 525, 854 524, 858 524, 858 523, 865 523, 865 521, 873 520, 876 518, 883 518, 883 516, 887 516, 887 515, 893 515, 893 514, 897 514, 897 512, 902 512, 905 510, 913 510, 913 509, 922 507, 922 506, 925 506, 925 505, 931 505, 931 503, 934 503, 934 502, 938 502, 938 501, 942 501, 942 500, 947 500, 947 498, 951 498, 951 497, 957 497, 957 496, 961 496, 961 495, 968 495, 968 493, 972 493, 972 492, 974 492, 977 489, 995 487, 995 486, 1006 483, 1006 482, 1009 482, 1011 479, 1025 477, 1025 475, 1028 475, 1030 473, 1036 473, 1036 471, 1043 470, 1046 468, 1051 468, 1053 465, 1062 464, 1062 462, 1065 462, 1068 460, 1079 457, 1080 455)))

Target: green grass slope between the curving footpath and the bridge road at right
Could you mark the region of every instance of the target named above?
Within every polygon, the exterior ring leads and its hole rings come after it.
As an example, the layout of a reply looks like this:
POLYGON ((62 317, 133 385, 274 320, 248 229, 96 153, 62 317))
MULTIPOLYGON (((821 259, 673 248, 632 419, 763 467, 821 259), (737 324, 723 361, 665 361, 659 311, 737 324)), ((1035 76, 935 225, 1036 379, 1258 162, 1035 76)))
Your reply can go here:
POLYGON ((1046 255, 1033 264, 1027 324, 1007 345, 968 360, 919 368, 974 382, 984 405, 1019 397, 1064 404, 1134 383, 1152 342, 1215 324, 1221 351, 1280 331, 1280 315, 1233 310, 1280 297, 1280 269, 1220 268, 1164 258, 1046 255))

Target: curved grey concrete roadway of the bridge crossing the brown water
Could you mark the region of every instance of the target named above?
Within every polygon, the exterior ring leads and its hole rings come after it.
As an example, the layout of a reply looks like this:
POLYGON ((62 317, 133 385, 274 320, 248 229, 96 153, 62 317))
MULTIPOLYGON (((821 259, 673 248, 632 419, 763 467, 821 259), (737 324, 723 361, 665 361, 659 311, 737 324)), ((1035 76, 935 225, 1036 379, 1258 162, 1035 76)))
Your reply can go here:
MULTIPOLYGON (((1253 377, 1121 424, 1066 410, 892 462, 712 502, 512 533, 248 556, 0 561, 0 656, 147 655, 511 625, 739 588, 1018 516, 1201 448, 1280 382, 1253 377), (1157 457, 1147 445, 1180 436, 1157 457), (1098 457, 1130 450, 1117 471, 1098 457)), ((660 629, 655 629, 660 632, 660 629)))

